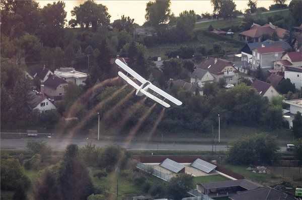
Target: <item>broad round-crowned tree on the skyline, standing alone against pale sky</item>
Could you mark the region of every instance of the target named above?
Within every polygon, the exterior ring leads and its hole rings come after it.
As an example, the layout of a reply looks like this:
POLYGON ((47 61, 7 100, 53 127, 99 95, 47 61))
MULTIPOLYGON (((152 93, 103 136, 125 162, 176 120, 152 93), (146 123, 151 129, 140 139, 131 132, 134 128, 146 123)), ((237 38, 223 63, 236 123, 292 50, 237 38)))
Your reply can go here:
POLYGON ((106 6, 96 4, 93 0, 74 7, 71 16, 75 19, 70 20, 69 25, 77 24, 82 28, 92 27, 93 31, 97 31, 98 27, 106 27, 110 23, 111 17, 106 6))

